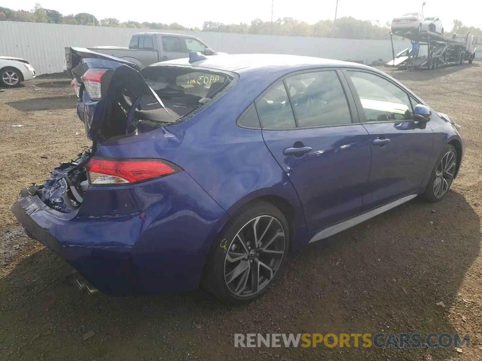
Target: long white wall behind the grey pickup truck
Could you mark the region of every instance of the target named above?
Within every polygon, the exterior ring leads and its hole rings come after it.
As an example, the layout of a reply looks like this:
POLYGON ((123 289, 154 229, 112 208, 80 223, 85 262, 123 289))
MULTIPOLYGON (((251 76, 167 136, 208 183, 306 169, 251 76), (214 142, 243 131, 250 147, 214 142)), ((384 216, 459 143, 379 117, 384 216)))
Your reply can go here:
MULTIPOLYGON (((27 59, 38 74, 66 69, 65 47, 101 45, 128 46, 134 33, 142 29, 65 24, 0 21, 0 55, 27 59)), ((317 56, 336 60, 373 61, 391 59, 389 40, 356 40, 148 30, 194 35, 214 50, 237 53, 277 53, 317 56)), ((394 41, 395 53, 410 47, 410 41, 394 41)))

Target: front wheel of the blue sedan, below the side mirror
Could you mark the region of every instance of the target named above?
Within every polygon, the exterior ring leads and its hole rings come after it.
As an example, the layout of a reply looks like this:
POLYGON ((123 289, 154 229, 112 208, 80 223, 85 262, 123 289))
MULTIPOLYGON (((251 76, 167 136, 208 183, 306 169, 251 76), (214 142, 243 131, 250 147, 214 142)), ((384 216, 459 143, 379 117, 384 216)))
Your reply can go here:
POLYGON ((454 180, 456 169, 457 152, 452 145, 447 144, 432 170, 423 194, 428 202, 438 202, 443 198, 454 180))

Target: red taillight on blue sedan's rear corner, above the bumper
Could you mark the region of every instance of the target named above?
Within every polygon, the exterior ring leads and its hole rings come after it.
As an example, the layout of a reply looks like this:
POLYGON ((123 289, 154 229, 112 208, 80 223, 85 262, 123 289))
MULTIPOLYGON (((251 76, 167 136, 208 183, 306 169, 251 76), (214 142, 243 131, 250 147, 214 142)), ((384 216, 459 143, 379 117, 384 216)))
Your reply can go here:
POLYGON ((157 159, 92 158, 86 170, 90 184, 113 185, 147 181, 176 173, 181 169, 174 164, 157 159))

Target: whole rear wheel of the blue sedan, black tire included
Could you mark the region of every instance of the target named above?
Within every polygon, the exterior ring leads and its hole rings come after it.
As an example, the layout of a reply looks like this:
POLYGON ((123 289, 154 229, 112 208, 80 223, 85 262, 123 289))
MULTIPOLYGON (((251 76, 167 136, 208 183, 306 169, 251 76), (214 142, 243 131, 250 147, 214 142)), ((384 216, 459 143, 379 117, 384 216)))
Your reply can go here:
POLYGON ((267 202, 238 212, 214 242, 201 285, 222 302, 239 305, 263 295, 286 262, 289 227, 267 202))

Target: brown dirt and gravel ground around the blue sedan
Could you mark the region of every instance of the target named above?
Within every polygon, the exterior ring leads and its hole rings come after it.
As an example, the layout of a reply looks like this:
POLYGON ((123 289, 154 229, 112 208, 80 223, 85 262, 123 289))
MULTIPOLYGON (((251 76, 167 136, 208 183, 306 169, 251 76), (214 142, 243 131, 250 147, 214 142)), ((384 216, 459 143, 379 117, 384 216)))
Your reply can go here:
POLYGON ((291 255, 266 296, 238 308, 201 291, 80 292, 70 266, 10 212, 22 187, 88 145, 73 91, 66 79, 38 78, 1 92, 0 360, 482 360, 482 64, 388 72, 462 125, 466 155, 452 190, 291 255), (469 333, 470 347, 233 346, 235 333, 304 332, 469 333))

